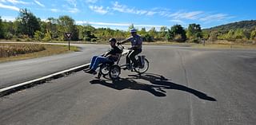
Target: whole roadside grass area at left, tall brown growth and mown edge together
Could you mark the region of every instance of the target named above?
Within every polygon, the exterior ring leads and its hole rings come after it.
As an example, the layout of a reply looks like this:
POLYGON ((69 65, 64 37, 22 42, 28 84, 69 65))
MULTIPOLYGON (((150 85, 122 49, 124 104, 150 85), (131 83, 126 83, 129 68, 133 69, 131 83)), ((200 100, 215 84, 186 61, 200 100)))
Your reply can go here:
POLYGON ((37 57, 47 57, 61 53, 78 51, 75 46, 39 44, 2 44, 0 43, 0 62, 19 61, 37 57))

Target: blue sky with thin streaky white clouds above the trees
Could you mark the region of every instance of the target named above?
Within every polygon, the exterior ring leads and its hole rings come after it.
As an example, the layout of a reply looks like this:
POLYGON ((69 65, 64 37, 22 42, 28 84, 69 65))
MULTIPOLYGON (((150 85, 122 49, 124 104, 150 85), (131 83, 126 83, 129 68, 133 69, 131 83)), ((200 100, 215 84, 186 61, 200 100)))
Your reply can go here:
POLYGON ((0 0, 0 16, 7 21, 27 8, 42 20, 68 15, 78 25, 126 30, 198 23, 210 28, 234 21, 255 20, 254 0, 0 0))

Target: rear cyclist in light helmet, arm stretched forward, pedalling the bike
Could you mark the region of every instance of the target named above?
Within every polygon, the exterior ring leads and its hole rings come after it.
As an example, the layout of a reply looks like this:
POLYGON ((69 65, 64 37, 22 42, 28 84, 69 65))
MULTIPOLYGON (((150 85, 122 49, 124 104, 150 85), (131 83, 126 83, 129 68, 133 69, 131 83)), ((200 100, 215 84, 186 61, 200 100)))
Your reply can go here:
MULTIPOLYGON (((130 65, 130 60, 133 61, 134 67, 138 66, 135 56, 142 53, 142 37, 137 34, 136 29, 130 29, 131 36, 124 41, 120 41, 117 44, 124 44, 128 41, 131 43, 130 52, 126 56, 126 64, 130 65)), ((127 67, 130 68, 130 67, 127 67)))

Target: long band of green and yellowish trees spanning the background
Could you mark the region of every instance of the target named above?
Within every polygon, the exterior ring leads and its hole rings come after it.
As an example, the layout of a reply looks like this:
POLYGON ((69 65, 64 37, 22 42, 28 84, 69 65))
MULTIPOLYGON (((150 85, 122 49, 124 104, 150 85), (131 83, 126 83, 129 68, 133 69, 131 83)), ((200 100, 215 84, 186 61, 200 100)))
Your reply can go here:
MULTIPOLYGON (((127 31, 110 28, 94 28, 92 25, 75 25, 74 19, 69 16, 59 18, 47 18, 42 21, 30 10, 22 9, 15 21, 2 21, 0 17, 0 39, 16 39, 20 41, 66 41, 65 33, 73 33, 72 41, 107 41, 110 37, 118 40, 130 36, 129 30, 134 28, 130 25, 127 31)), ((203 39, 210 41, 255 41, 255 29, 201 29, 199 24, 190 24, 187 28, 182 25, 173 25, 167 28, 162 26, 159 31, 155 27, 146 31, 146 28, 138 29, 138 34, 143 41, 178 41, 198 43, 203 39)))

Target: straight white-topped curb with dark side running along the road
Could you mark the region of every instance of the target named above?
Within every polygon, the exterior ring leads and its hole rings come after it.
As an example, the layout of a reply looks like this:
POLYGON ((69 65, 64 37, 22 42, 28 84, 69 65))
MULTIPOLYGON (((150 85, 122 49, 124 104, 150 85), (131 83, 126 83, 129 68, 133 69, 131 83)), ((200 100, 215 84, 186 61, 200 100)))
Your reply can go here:
POLYGON ((12 85, 10 87, 1 88, 0 89, 0 97, 10 95, 11 93, 18 92, 18 91, 20 91, 22 89, 25 89, 25 88, 31 88, 31 87, 33 87, 37 84, 46 83, 46 81, 50 81, 50 80, 60 78, 62 76, 66 76, 66 75, 70 74, 71 72, 81 71, 84 68, 88 68, 89 65, 90 65, 90 63, 89 64, 83 64, 83 65, 80 65, 80 66, 77 66, 77 67, 74 67, 74 68, 66 69, 66 70, 61 71, 61 72, 56 72, 56 73, 53 73, 53 74, 50 74, 50 75, 47 75, 47 76, 43 76, 43 77, 35 79, 35 80, 29 80, 29 81, 26 81, 26 82, 23 82, 23 83, 20 83, 20 84, 12 85))

